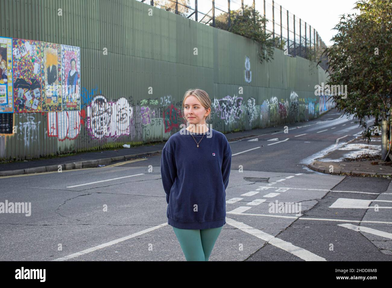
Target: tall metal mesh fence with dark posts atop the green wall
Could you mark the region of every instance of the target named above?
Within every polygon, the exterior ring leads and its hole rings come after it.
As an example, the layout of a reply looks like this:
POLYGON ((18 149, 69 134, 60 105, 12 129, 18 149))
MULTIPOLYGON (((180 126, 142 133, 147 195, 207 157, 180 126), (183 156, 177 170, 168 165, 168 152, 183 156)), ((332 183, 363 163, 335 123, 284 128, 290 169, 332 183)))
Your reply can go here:
POLYGON ((230 27, 229 11, 236 11, 249 5, 263 15, 267 22, 264 30, 272 38, 280 38, 283 50, 290 56, 300 56, 318 62, 327 70, 327 58, 321 54, 327 47, 310 23, 296 17, 276 1, 270 0, 138 0, 165 9, 183 17, 215 27, 215 20, 227 20, 230 27))

